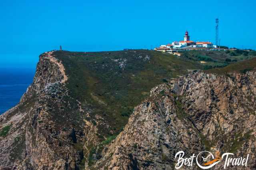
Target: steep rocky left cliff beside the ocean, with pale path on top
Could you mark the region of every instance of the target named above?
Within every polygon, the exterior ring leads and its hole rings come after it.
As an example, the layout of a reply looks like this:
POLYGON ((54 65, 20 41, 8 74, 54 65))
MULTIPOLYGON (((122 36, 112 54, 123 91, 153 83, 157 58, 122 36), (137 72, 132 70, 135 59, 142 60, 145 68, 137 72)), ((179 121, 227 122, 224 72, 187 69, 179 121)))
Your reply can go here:
POLYGON ((0 166, 35 170, 80 166, 84 123, 76 113, 79 103, 64 87, 68 79, 64 67, 52 53, 40 56, 34 81, 20 103, 0 116, 0 166))

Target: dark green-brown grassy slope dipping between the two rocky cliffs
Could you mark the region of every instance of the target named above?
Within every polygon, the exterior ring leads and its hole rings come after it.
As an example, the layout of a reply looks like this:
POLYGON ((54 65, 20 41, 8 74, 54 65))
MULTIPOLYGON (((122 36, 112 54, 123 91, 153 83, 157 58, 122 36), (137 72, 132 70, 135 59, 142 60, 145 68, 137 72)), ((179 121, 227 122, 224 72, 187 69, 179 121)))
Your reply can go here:
POLYGON ((114 134, 122 130, 133 108, 163 79, 184 75, 188 69, 202 69, 198 62, 158 51, 56 51, 54 54, 66 68, 71 95, 83 105, 90 105, 94 115, 102 115, 110 124, 110 129, 99 127, 104 135, 111 135, 109 130, 114 134), (139 58, 146 55, 150 60, 139 58), (127 60, 124 70, 114 59, 127 60))

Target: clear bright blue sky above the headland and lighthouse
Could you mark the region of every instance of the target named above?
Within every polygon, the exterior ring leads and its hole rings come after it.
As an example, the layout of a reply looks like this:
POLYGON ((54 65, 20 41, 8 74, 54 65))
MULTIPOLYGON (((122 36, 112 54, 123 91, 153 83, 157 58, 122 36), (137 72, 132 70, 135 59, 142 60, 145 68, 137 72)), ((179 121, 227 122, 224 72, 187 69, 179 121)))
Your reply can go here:
POLYGON ((0 68, 35 68, 38 55, 58 49, 111 51, 182 40, 256 49, 255 0, 2 0, 0 68))

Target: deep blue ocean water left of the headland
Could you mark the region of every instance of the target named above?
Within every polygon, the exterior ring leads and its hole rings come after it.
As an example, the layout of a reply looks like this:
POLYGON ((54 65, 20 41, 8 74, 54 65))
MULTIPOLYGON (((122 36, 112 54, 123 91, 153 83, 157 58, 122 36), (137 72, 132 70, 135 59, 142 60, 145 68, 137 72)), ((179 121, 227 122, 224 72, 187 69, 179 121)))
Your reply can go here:
POLYGON ((20 101, 34 73, 34 69, 0 68, 0 115, 20 101))

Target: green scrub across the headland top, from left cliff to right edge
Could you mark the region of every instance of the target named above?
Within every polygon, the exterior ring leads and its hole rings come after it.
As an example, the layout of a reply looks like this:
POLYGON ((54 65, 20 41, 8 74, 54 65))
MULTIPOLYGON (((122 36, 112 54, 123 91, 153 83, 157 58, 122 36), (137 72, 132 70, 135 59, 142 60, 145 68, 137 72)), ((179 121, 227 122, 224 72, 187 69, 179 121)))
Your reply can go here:
MULTIPOLYGON (((207 69, 208 73, 225 74, 232 71, 245 73, 256 66, 255 51, 247 52, 184 51, 181 57, 175 57, 148 50, 88 53, 55 51, 54 55, 63 63, 68 75, 66 87, 74 98, 73 101, 68 98, 68 102, 75 108, 78 100, 81 102, 82 109, 92 110, 93 114, 86 119, 98 126, 99 134, 97 135, 103 140, 98 146, 92 146, 90 153, 86 155, 90 165, 94 162, 92 155, 100 153, 104 145, 116 138, 126 125, 134 107, 148 97, 152 87, 167 83, 168 79, 193 70, 207 69), (200 61, 206 63, 200 63, 200 61), (108 122, 110 128, 98 124, 95 115, 100 115, 108 122)), ((160 96, 163 95, 165 93, 161 91, 160 96)), ((175 100, 178 106, 178 118, 185 119, 187 115, 182 109, 180 99, 179 97, 175 100)), ((82 117, 85 117, 85 113, 74 113, 75 109, 71 107, 68 110, 68 108, 60 109, 66 109, 64 110, 66 113, 72 113, 74 124, 79 125, 76 122, 83 121, 82 117)), ((52 112, 56 112, 58 120, 63 119, 58 108, 52 112)), ((206 138, 204 140, 203 137, 201 136, 205 145, 210 147, 212 142, 206 138)))

